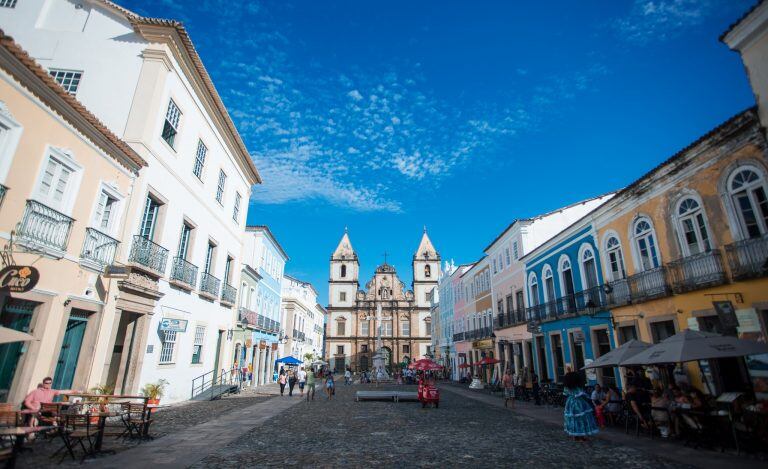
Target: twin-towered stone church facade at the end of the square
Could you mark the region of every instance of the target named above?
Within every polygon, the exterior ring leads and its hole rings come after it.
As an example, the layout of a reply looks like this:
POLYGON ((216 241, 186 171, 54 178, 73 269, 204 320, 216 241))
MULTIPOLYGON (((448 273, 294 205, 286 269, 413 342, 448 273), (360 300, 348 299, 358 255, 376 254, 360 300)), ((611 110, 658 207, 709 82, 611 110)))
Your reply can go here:
POLYGON ((365 288, 360 288, 360 262, 345 231, 331 256, 328 281, 324 359, 332 368, 339 372, 346 367, 355 372, 370 370, 379 328, 389 371, 431 353, 429 294, 437 287, 440 254, 426 230, 411 268, 409 290, 386 260, 376 267, 365 288))

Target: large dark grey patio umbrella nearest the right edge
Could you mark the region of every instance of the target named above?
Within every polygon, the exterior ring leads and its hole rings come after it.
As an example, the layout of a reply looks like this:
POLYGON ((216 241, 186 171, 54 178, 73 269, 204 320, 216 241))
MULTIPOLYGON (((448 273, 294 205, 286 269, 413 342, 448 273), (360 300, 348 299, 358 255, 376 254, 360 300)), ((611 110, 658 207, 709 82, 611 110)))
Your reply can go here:
POLYGON ((625 360, 622 365, 684 363, 761 353, 768 353, 768 344, 686 329, 625 360))

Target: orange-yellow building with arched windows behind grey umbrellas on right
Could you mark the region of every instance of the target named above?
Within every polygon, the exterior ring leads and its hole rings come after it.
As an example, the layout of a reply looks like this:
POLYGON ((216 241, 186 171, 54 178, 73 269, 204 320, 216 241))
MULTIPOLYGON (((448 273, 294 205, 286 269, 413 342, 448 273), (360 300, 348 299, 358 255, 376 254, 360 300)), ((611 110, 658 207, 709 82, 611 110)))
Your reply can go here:
MULTIPOLYGON (((598 209, 617 343, 658 343, 686 328, 765 338, 767 196, 766 141, 749 109, 598 209)), ((741 363, 702 370, 717 375, 710 386, 719 392, 746 379, 741 363)))

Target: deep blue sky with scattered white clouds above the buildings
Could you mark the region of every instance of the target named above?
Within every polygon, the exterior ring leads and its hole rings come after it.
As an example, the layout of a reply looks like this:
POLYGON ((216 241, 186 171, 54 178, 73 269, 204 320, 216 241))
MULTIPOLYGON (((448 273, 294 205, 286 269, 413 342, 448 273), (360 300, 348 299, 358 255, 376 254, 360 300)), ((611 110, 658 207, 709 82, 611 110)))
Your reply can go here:
POLYGON ((345 226, 361 283, 387 251, 408 284, 424 225, 474 260, 751 106, 718 37, 752 3, 121 2, 185 23, 264 177, 248 221, 322 304, 345 226))

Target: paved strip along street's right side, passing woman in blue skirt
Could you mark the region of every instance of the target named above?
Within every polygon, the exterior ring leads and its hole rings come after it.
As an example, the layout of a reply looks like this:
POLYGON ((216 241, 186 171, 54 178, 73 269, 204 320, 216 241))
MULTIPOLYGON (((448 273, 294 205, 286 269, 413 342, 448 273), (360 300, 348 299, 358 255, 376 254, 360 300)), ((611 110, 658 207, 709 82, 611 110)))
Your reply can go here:
MULTIPOLYGON (((475 391, 468 389, 465 385, 440 382, 440 389, 464 396, 475 401, 482 402, 494 407, 504 409, 504 400, 499 396, 493 396, 487 391, 475 391)), ((510 412, 537 420, 548 425, 563 427, 563 410, 547 406, 536 406, 530 402, 515 402, 515 408, 507 408, 510 412)), ((563 438, 566 438, 563 433, 563 438)), ((627 435, 618 428, 607 428, 596 436, 604 441, 616 443, 622 446, 628 446, 639 451, 643 451, 654 456, 663 455, 664 458, 675 461, 680 464, 693 465, 702 468, 722 468, 727 465, 738 464, 739 468, 764 468, 766 462, 755 459, 750 456, 739 456, 730 453, 720 453, 707 449, 693 449, 683 446, 675 441, 665 441, 660 438, 653 440, 648 436, 641 435, 636 437, 634 434, 627 435)))

